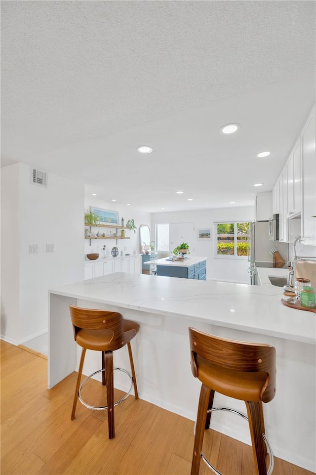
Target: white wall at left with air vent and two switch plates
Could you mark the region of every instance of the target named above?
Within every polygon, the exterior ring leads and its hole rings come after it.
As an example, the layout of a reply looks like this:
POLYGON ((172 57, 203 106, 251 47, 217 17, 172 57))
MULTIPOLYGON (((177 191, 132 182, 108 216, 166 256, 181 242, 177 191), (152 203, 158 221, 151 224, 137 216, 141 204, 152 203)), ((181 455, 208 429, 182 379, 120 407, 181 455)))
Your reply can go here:
POLYGON ((30 182, 28 165, 1 169, 1 338, 21 344, 45 333, 48 289, 83 279, 83 208, 78 182, 48 173, 45 188, 30 182))

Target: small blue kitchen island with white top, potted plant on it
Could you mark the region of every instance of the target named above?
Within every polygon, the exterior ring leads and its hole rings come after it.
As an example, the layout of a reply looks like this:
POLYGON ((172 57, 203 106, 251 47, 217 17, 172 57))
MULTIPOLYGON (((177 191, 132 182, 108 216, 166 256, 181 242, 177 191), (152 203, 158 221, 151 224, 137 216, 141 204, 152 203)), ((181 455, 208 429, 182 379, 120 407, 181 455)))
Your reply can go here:
POLYGON ((165 277, 180 277, 182 279, 206 280, 206 259, 199 257, 184 257, 184 260, 163 258, 144 262, 146 265, 156 265, 157 275, 165 277))

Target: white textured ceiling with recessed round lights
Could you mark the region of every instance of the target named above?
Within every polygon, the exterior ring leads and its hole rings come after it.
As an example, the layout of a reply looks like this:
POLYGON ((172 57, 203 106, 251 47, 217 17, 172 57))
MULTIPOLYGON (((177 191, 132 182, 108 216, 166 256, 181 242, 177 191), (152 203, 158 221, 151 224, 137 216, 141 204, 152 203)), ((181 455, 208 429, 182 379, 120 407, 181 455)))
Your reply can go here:
POLYGON ((315 102, 315 5, 1 1, 1 166, 149 212, 252 204, 315 102))

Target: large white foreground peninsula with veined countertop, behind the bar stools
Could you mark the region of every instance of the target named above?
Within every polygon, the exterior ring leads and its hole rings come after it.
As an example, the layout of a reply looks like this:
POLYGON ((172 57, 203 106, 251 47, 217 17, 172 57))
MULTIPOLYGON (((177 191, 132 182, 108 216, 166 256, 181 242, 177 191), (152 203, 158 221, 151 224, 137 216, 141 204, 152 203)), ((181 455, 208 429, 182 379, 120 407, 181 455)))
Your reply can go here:
MULTIPOLYGON (((277 457, 315 471, 315 314, 288 308, 281 297, 282 289, 272 285, 128 273, 57 287, 49 295, 48 387, 78 368, 69 304, 119 311, 137 321, 140 332, 131 343, 140 398, 191 420, 200 383, 191 373, 188 327, 267 343, 276 347, 277 366, 276 397, 264 404, 267 437, 277 457)), ((129 368, 126 348, 114 358, 115 366, 129 368)), ((100 361, 88 351, 84 374, 99 369, 100 361)), ((215 405, 245 412, 243 402, 218 394, 215 405)), ((214 415, 214 429, 249 441, 239 418, 214 415)))

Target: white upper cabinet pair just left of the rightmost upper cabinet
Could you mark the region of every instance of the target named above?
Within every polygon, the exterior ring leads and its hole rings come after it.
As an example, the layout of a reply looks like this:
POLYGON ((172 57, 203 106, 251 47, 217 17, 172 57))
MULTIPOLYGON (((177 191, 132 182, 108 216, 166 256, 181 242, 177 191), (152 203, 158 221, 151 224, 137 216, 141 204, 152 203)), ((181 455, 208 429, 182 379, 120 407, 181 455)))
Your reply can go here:
POLYGON ((301 166, 301 143, 298 139, 286 163, 287 217, 301 213, 301 166))

